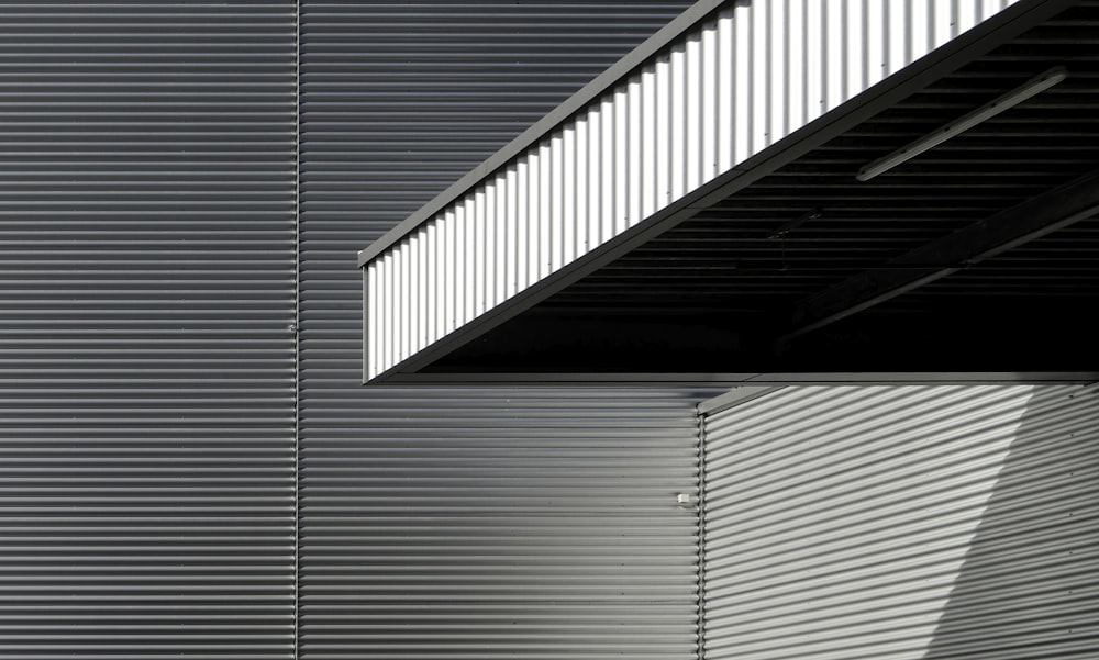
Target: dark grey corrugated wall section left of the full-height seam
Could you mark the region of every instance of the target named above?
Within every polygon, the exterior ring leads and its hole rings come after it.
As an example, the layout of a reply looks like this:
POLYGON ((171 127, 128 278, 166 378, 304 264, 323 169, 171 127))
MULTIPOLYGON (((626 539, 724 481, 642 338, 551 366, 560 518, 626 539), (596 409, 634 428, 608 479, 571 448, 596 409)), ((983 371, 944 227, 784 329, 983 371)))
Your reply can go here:
POLYGON ((295 3, 0 8, 4 658, 293 651, 295 3))

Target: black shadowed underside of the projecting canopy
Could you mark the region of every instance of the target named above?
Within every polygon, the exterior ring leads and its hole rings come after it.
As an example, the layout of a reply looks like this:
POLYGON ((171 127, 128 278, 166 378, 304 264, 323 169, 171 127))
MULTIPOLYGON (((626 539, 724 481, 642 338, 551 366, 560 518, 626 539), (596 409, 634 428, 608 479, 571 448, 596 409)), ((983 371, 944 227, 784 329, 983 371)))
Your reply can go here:
POLYGON ((1095 217, 776 339, 797 329, 791 312, 809 297, 1097 169, 1099 2, 1088 0, 424 371, 1094 368, 1095 217), (1054 66, 1069 72, 1056 87, 868 182, 855 179, 863 165, 1054 66))

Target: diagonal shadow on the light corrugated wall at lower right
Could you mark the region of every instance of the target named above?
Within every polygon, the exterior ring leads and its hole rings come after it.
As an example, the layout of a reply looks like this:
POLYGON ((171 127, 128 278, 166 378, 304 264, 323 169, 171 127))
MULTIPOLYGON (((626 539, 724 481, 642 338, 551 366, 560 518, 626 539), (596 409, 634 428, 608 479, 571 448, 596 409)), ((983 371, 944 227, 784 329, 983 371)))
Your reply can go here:
POLYGON ((1099 388, 1034 388, 924 656, 1099 657, 1099 388))

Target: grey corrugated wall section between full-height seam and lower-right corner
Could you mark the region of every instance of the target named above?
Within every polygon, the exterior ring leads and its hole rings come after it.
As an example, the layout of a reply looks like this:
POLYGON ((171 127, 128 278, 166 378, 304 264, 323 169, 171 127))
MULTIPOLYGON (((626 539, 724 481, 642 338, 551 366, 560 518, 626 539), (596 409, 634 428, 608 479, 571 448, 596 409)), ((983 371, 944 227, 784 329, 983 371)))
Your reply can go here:
POLYGON ((692 657, 700 394, 363 388, 355 267, 687 4, 303 3, 303 659, 692 657))

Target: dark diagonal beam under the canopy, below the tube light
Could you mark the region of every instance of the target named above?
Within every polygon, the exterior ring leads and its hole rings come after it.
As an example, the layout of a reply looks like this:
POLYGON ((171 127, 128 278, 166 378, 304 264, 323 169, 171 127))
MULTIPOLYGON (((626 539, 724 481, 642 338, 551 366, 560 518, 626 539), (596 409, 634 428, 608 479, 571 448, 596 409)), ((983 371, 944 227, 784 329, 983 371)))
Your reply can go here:
POLYGON ((795 304, 790 339, 944 278, 1099 212, 1099 171, 921 246, 795 304))

